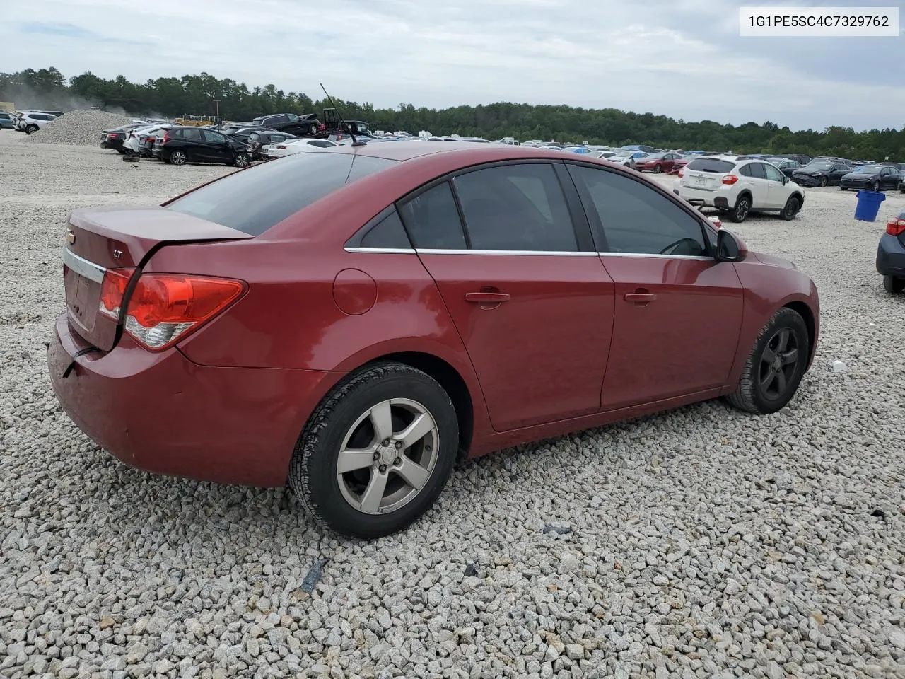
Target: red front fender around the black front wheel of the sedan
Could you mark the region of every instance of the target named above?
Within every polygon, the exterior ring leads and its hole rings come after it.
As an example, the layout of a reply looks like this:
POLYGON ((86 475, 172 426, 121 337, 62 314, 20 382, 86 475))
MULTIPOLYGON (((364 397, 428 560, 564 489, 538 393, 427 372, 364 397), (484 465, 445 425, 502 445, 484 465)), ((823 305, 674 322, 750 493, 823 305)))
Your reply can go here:
POLYGON ((797 269, 758 261, 757 253, 748 253, 748 258, 744 262, 736 263, 735 267, 738 279, 745 289, 745 311, 742 314, 738 356, 730 374, 731 388, 734 389, 738 384, 738 378, 741 377, 748 354, 754 347, 760 331, 773 314, 784 306, 799 306, 810 311, 811 319, 805 318, 805 322, 813 324, 813 340, 808 357, 810 367, 814 361, 814 352, 820 335, 820 301, 814 282, 797 269))

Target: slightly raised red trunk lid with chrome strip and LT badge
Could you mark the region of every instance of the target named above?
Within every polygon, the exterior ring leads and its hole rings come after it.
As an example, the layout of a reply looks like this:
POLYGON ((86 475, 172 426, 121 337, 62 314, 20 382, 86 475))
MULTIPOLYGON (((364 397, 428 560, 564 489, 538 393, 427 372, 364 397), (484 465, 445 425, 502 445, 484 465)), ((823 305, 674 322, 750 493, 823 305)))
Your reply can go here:
POLYGON ((66 225, 63 282, 73 330, 103 351, 116 344, 118 323, 99 312, 108 269, 141 266, 162 244, 240 240, 249 234, 165 207, 75 210, 66 225))

